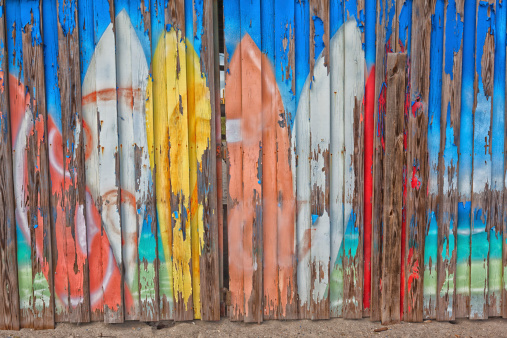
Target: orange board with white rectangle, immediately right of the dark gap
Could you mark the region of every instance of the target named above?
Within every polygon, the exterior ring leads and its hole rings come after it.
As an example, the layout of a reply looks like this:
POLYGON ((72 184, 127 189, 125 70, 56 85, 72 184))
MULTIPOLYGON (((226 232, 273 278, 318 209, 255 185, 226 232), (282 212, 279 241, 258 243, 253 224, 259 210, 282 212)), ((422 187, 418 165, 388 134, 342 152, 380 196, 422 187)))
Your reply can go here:
POLYGON ((229 317, 243 320, 243 133, 241 120, 241 17, 240 1, 224 4, 225 115, 228 162, 227 231, 229 249, 229 317))

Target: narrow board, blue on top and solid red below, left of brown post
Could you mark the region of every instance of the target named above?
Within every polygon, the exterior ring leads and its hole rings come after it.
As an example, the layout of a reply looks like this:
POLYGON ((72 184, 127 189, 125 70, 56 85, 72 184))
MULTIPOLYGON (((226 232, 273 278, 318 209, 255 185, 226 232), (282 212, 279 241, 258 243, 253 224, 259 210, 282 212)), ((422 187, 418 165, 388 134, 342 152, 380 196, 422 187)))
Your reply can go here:
POLYGON ((375 29, 377 1, 365 1, 364 51, 366 61, 364 88, 364 156, 363 156, 363 316, 370 315, 371 300, 371 248, 372 248, 372 195, 373 195, 373 140, 375 106, 375 29))

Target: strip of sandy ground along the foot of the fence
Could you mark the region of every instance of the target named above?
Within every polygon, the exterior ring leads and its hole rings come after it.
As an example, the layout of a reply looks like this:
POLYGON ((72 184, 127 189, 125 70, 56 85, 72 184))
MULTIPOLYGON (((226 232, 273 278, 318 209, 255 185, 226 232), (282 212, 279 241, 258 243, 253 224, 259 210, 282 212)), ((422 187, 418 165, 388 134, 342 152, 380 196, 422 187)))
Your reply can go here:
POLYGON ((267 321, 260 325, 233 323, 222 319, 209 322, 140 322, 124 324, 58 324, 55 330, 2 331, 2 337, 507 337, 507 320, 458 320, 454 323, 427 321, 420 324, 390 325, 363 320, 267 321))

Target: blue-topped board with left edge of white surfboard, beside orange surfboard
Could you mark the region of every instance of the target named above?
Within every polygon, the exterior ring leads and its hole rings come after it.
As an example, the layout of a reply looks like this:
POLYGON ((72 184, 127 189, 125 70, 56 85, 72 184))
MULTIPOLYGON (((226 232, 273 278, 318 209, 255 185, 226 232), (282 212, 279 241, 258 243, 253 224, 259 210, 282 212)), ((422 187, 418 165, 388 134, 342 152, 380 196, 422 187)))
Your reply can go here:
POLYGON ((296 66, 296 242, 297 299, 299 319, 311 317, 311 206, 310 206, 310 8, 307 1, 295 3, 296 66))

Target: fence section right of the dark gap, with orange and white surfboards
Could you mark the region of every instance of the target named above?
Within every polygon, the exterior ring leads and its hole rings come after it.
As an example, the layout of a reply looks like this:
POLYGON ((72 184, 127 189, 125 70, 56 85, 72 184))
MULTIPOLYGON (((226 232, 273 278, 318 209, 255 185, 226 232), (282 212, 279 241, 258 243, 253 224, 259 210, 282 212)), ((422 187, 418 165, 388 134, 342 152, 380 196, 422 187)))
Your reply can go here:
POLYGON ((224 2, 233 320, 507 316, 506 10, 224 2))

